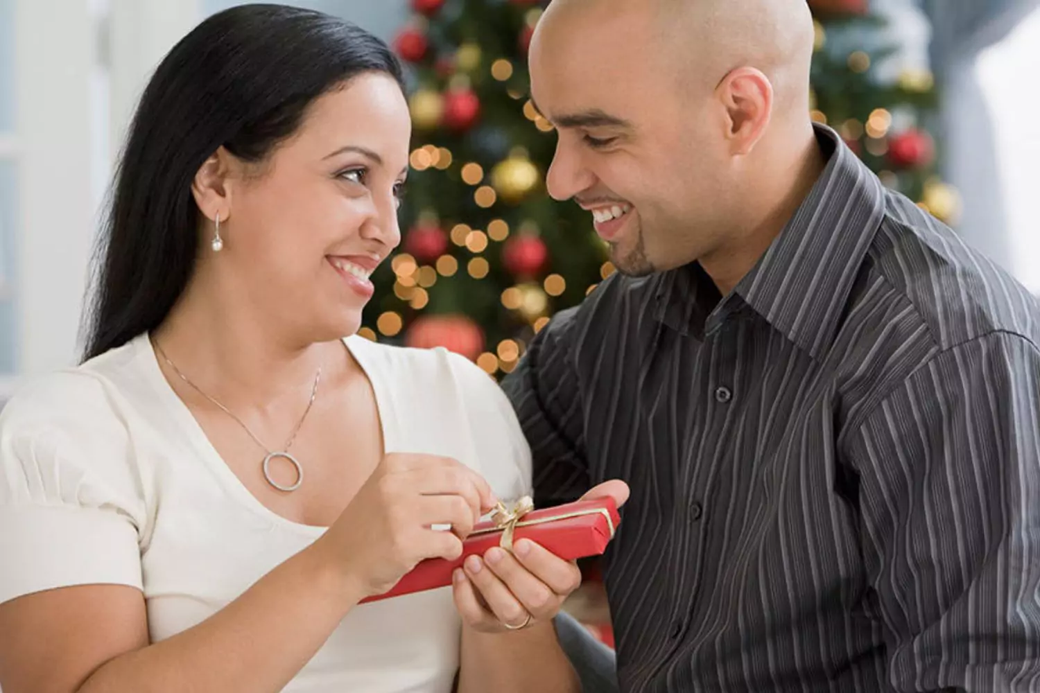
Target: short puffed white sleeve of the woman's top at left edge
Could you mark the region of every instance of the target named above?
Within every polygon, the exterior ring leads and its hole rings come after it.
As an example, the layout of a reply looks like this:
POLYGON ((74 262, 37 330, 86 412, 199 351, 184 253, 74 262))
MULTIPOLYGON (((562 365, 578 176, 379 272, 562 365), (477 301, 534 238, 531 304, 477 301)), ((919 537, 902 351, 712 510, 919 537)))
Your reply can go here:
POLYGON ((112 458, 126 434, 68 385, 35 387, 0 416, 0 603, 73 585, 141 588, 140 504, 125 456, 112 458))

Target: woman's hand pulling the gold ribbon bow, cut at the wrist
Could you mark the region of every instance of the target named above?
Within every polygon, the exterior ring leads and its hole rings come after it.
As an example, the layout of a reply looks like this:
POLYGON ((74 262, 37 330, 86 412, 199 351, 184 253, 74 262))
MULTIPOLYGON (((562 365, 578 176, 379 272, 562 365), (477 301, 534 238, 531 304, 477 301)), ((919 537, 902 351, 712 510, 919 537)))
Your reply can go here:
POLYGON ((315 544, 322 544, 345 593, 382 594, 419 561, 459 558, 462 539, 496 502, 488 482, 461 462, 390 454, 315 544))

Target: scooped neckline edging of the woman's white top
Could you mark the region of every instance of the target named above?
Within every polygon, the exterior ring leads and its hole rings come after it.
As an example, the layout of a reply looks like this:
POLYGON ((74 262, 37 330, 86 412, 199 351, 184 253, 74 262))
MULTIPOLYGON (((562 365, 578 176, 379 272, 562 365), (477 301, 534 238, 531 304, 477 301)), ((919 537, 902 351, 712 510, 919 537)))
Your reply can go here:
MULTIPOLYGON (((216 475, 224 485, 224 488, 229 491, 236 501, 238 501, 239 505, 254 514, 260 515, 268 522, 272 522, 278 526, 287 528, 297 533, 314 537, 323 534, 329 529, 328 526, 307 525, 289 519, 288 517, 285 517, 268 508, 253 495, 245 484, 242 483, 242 480, 231 471, 231 468, 224 460, 224 457, 222 457, 220 453, 217 452, 215 447, 213 447, 209 436, 206 435, 206 431, 203 430, 202 425, 194 418, 194 415, 191 414, 191 409, 189 409, 188 405, 185 404, 180 397, 178 397, 173 387, 166 380, 166 376, 163 375, 162 368, 159 365, 158 354, 152 346, 150 335, 145 332, 137 339, 137 347, 144 356, 149 380, 160 399, 165 404, 165 408, 174 415, 174 422, 179 429, 179 432, 185 435, 190 447, 198 453, 199 458, 211 472, 216 475)), ((391 406, 393 399, 386 391, 383 380, 375 377, 374 373, 376 369, 372 367, 372 364, 366 363, 367 354, 363 354, 365 351, 364 348, 359 348, 362 347, 359 340, 364 340, 364 338, 358 336, 344 337, 340 339, 340 342, 343 344, 343 347, 347 350, 347 352, 354 356, 355 361, 358 362, 358 366, 361 368, 362 373, 364 373, 365 377, 368 378, 368 382, 371 384, 372 393, 375 397, 375 410, 379 415, 380 428, 383 434, 383 450, 384 454, 386 454, 394 449, 393 441, 395 439, 396 420, 393 418, 393 409, 391 406)))

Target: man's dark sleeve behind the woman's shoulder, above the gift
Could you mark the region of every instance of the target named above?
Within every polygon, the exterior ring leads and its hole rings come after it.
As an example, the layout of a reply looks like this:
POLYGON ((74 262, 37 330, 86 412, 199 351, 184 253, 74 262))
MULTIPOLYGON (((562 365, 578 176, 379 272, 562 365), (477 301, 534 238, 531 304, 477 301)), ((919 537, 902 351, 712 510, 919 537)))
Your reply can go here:
POLYGON ((581 390, 571 351, 577 311, 558 313, 502 382, 530 445, 539 507, 574 501, 590 487, 581 390))

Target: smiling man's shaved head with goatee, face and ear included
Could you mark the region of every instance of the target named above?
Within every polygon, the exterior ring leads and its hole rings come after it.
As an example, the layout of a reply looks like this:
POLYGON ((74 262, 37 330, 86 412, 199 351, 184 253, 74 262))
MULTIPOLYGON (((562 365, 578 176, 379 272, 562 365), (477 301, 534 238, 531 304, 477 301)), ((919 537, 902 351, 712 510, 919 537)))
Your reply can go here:
POLYGON ((725 252, 757 222, 749 190, 811 137, 812 45, 805 0, 553 0, 530 48, 550 193, 632 210, 597 224, 622 271, 725 252))

